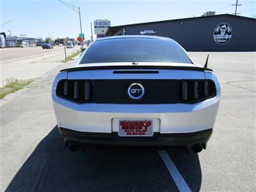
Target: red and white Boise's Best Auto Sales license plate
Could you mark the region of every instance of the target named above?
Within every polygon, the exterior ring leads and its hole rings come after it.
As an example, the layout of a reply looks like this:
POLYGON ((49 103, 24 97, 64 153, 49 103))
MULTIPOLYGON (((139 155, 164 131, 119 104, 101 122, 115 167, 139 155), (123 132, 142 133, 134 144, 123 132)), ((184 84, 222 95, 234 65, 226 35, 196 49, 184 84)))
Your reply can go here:
POLYGON ((119 120, 118 136, 153 136, 153 120, 119 120))

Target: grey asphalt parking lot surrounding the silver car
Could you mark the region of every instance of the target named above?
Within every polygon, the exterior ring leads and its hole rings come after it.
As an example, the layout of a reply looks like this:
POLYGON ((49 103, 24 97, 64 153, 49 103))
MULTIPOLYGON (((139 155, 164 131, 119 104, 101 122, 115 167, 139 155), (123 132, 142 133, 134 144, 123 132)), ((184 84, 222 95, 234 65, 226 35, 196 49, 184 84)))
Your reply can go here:
MULTIPOLYGON (((207 53, 190 52, 205 62, 207 53)), ((207 150, 64 148, 51 102, 60 65, 0 100, 0 191, 255 191, 256 53, 211 52, 221 104, 207 150)))

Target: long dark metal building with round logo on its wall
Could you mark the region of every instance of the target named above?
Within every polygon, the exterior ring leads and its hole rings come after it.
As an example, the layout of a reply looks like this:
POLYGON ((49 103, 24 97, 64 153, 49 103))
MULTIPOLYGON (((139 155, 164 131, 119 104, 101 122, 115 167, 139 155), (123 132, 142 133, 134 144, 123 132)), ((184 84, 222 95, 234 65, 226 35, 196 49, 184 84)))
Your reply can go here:
POLYGON ((186 51, 256 51, 256 19, 222 14, 115 26, 106 36, 170 37, 186 51))

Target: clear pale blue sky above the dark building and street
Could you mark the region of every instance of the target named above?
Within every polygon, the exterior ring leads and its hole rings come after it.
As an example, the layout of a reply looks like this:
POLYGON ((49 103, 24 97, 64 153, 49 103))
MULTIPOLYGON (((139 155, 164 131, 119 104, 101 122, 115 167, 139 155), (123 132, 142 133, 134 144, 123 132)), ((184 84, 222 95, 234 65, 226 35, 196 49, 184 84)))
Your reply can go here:
MULTIPOLYGON (((111 26, 199 17, 204 12, 234 13, 236 0, 187 1, 86 1, 64 0, 80 7, 84 37, 90 39, 90 22, 111 20, 111 26)), ((256 0, 239 0, 237 12, 241 16, 256 18, 256 0)), ((6 35, 26 35, 45 38, 76 38, 80 33, 79 14, 57 0, 0 0, 0 24, 12 20, 1 28, 6 35)), ((95 35, 93 35, 95 38, 95 35)))

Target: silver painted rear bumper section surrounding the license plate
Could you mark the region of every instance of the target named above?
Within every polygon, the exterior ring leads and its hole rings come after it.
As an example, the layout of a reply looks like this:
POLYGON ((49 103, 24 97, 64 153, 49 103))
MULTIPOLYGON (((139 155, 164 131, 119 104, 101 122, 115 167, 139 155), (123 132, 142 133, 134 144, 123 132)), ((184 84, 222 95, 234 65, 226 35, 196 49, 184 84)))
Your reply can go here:
POLYGON ((214 127, 220 102, 216 97, 196 104, 76 104, 52 92, 59 127, 79 132, 118 132, 118 119, 152 119, 154 132, 189 133, 214 127))

